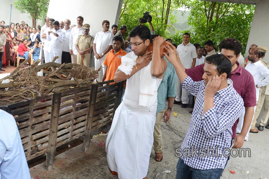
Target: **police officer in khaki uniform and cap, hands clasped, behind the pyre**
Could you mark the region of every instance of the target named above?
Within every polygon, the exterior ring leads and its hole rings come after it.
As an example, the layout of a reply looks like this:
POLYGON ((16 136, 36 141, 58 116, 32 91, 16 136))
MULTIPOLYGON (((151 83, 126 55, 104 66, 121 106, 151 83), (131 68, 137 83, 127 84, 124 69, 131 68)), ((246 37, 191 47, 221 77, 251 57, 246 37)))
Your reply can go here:
POLYGON ((78 36, 77 42, 76 42, 76 49, 78 52, 77 64, 85 65, 86 67, 89 67, 94 37, 89 35, 89 31, 90 31, 89 24, 84 24, 82 28, 83 28, 83 35, 78 36))

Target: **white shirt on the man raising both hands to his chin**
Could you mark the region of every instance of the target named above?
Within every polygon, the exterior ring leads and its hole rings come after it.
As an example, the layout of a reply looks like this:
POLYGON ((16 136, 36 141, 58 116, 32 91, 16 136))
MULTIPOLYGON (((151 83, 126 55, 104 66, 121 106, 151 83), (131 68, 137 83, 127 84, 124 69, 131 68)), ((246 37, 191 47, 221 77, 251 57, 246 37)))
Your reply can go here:
MULTIPOLYGON (((53 29, 52 31, 55 32, 55 29, 53 29)), ((62 53, 63 43, 65 41, 65 32, 63 32, 62 29, 59 28, 55 33, 57 33, 59 36, 56 37, 54 33, 50 33, 50 35, 47 36, 47 40, 51 41, 50 52, 62 53)))

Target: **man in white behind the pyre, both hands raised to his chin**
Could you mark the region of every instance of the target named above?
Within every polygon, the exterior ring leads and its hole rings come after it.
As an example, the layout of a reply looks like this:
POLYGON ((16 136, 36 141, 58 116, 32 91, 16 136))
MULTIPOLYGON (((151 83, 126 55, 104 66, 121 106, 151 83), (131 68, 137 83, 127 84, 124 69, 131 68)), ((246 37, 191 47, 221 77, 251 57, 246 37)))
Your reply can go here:
POLYGON ((58 21, 54 21, 52 25, 54 30, 48 32, 47 37, 48 41, 51 41, 50 61, 52 61, 54 57, 58 56, 55 62, 60 64, 62 63, 62 50, 63 43, 65 41, 65 32, 63 32, 60 28, 58 21))

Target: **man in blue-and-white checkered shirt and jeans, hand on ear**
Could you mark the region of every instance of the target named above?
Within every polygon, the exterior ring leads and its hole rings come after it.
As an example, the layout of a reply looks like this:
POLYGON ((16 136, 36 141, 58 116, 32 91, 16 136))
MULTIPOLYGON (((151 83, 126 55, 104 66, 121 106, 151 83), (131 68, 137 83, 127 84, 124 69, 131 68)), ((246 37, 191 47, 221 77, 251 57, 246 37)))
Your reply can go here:
POLYGON ((220 178, 229 154, 224 149, 230 148, 232 126, 244 105, 229 79, 232 64, 224 55, 212 55, 205 59, 204 80, 194 82, 181 68, 175 47, 171 44, 166 50, 182 87, 197 96, 181 153, 177 153, 181 158, 176 179, 220 178))

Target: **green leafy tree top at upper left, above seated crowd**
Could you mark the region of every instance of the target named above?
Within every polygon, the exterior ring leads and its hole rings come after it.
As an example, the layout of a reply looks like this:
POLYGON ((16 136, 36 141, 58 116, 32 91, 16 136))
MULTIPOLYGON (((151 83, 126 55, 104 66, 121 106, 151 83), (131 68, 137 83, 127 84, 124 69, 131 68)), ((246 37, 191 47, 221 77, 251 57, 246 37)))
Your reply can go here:
POLYGON ((48 12, 50 0, 16 0, 15 8, 21 13, 29 13, 32 19, 43 20, 48 12))

